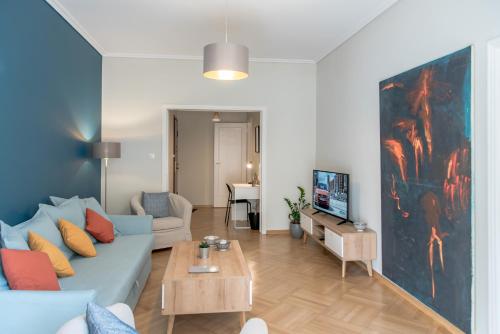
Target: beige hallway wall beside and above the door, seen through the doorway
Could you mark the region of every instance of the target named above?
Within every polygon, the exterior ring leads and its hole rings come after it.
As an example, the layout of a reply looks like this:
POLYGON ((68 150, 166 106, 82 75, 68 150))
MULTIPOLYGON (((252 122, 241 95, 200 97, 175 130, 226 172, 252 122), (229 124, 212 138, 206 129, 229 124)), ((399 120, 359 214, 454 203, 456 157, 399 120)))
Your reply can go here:
MULTIPOLYGON (((213 205, 213 113, 176 111, 175 114, 179 125, 179 195, 187 198, 193 205, 213 205)), ((247 122, 247 113, 230 112, 219 113, 219 115, 221 122, 247 122)))

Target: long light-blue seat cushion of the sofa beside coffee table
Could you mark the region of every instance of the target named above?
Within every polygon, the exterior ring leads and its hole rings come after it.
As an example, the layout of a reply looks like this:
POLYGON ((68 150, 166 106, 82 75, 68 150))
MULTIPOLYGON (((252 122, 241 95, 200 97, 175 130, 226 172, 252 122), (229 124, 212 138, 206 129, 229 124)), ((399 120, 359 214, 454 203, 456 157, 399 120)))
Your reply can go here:
POLYGON ((71 265, 76 275, 59 279, 63 290, 97 291, 96 303, 124 302, 153 248, 152 234, 119 236, 111 244, 95 245, 96 257, 76 255, 71 265))

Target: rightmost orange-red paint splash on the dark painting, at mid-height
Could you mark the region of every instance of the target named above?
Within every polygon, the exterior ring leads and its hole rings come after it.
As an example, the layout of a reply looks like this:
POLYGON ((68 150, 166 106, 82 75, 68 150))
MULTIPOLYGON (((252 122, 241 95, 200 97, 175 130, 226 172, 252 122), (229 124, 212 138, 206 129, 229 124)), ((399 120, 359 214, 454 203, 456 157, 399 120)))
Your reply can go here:
POLYGON ((467 175, 469 150, 456 149, 447 161, 446 179, 443 183, 443 194, 446 201, 445 214, 453 219, 455 214, 465 212, 469 208, 470 177, 467 175))

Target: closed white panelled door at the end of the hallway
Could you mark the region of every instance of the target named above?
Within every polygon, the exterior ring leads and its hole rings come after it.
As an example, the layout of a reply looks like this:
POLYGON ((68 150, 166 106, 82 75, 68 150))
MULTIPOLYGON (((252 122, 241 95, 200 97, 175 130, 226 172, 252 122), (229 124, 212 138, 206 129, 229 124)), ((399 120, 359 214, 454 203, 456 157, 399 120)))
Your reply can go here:
POLYGON ((214 125, 214 207, 225 207, 226 183, 246 183, 247 123, 214 125))

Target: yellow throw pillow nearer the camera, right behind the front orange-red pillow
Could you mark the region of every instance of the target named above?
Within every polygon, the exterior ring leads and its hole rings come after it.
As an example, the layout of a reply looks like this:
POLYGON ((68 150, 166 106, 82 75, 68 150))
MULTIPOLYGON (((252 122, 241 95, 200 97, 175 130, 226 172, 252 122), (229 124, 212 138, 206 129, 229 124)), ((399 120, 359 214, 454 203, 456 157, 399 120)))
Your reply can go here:
POLYGON ((71 267, 71 264, 66 256, 64 256, 63 252, 61 252, 59 248, 54 246, 54 244, 43 238, 41 235, 29 231, 28 244, 31 250, 44 252, 49 256, 50 262, 52 263, 57 276, 67 277, 75 274, 75 271, 71 267))

